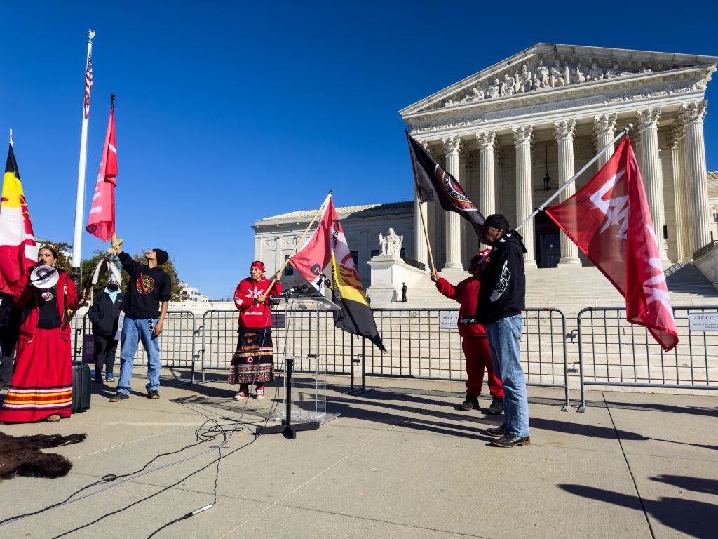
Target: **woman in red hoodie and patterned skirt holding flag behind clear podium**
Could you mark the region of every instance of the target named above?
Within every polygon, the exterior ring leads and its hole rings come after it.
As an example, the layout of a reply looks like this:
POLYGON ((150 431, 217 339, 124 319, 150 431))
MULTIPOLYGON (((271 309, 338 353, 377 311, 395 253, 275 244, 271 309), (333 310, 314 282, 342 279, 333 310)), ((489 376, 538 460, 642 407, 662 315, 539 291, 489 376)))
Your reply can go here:
POLYGON ((274 382, 271 312, 266 298, 281 293, 280 281, 281 272, 276 272, 272 286, 272 282, 264 277, 264 264, 255 260, 249 268, 249 277, 243 279, 234 291, 239 329, 228 383, 239 384, 235 399, 248 397, 252 384, 256 385, 256 398, 264 399, 264 384, 274 382))

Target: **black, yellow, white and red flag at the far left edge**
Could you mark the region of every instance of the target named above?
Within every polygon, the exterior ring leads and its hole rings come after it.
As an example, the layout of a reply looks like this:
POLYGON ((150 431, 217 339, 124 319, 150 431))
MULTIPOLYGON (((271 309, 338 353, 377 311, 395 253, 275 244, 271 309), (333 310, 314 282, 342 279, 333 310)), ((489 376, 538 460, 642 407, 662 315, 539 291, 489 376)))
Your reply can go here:
POLYGON ((24 285, 22 277, 37 262, 37 244, 30 213, 20 183, 15 155, 10 147, 0 203, 0 292, 15 295, 24 285))

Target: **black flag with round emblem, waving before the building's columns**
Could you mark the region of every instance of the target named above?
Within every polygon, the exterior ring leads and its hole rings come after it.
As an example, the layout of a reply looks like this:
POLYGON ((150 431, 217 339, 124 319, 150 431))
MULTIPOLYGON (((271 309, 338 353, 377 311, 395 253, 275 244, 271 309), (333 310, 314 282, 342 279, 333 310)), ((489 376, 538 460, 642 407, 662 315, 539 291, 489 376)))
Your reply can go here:
POLYGON ((414 167, 414 181, 416 193, 419 193, 419 201, 439 201, 444 210, 455 211, 469 221, 480 237, 484 216, 466 195, 460 183, 444 170, 434 157, 414 140, 414 137, 411 137, 409 130, 406 131, 406 141, 409 142, 409 155, 411 155, 411 166, 414 167))

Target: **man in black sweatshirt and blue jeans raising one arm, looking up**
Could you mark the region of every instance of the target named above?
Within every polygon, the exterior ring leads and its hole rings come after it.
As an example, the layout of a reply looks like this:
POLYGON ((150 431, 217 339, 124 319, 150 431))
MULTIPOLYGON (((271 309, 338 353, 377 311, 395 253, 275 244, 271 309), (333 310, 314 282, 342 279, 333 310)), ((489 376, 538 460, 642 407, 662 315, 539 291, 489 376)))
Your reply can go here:
POLYGON ((139 341, 147 352, 147 397, 159 399, 159 334, 167 315, 169 298, 172 297, 172 282, 160 266, 167 262, 167 252, 153 249, 144 254, 147 264, 136 262, 120 247, 117 235, 112 235, 122 269, 129 273, 130 280, 122 301, 125 319, 122 324, 120 351, 120 379, 117 394, 110 402, 129 399, 132 380, 132 364, 139 341), (162 308, 160 308, 162 303, 162 308))

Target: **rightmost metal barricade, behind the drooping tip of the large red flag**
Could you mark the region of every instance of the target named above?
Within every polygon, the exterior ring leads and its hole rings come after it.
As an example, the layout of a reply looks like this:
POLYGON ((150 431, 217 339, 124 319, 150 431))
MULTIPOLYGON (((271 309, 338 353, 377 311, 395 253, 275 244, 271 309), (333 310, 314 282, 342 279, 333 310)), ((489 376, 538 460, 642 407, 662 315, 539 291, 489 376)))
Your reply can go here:
POLYGON ((577 317, 581 402, 587 385, 718 389, 718 333, 689 329, 689 313, 718 306, 673 307, 679 344, 664 352, 643 326, 628 323, 624 307, 585 308, 577 317))

